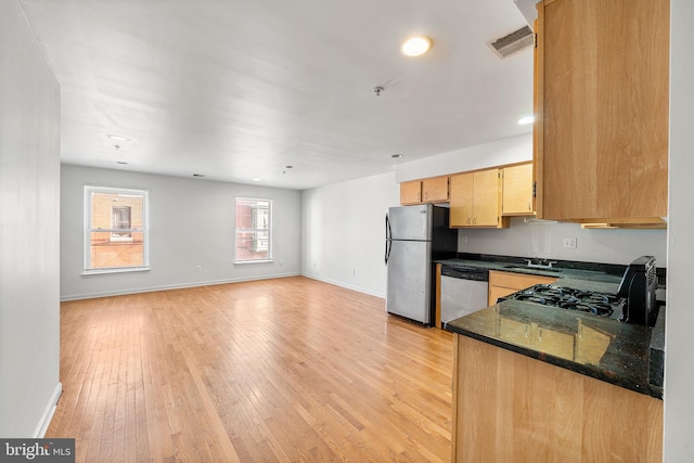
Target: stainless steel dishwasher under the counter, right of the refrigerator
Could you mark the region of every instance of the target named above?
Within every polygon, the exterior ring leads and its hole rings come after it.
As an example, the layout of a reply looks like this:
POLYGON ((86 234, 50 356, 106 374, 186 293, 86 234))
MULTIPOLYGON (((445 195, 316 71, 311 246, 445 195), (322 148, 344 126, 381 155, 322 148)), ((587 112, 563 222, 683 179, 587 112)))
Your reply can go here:
POLYGON ((441 323, 488 306, 489 271, 468 267, 441 267, 441 323))

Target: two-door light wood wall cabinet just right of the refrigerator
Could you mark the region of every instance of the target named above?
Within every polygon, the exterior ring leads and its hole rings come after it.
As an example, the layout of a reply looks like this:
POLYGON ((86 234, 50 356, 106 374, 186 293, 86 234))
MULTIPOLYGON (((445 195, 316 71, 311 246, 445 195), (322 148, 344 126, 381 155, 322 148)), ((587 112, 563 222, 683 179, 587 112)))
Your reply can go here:
POLYGON ((451 176, 450 226, 451 228, 509 227, 509 220, 501 217, 499 169, 451 176))

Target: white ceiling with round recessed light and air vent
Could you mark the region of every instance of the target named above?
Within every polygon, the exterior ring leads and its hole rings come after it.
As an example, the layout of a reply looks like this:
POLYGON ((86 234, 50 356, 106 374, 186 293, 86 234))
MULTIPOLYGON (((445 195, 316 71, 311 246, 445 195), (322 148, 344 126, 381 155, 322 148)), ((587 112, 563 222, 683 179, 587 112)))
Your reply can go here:
POLYGON ((64 163, 303 190, 531 129, 532 51, 487 46, 527 24, 513 0, 20 1, 64 163))

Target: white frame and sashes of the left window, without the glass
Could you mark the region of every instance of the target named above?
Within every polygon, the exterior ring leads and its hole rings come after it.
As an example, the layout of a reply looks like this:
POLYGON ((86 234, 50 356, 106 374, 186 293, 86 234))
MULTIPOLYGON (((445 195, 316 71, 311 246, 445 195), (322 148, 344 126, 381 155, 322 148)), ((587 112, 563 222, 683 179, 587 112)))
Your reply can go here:
POLYGON ((136 189, 124 189, 124 188, 111 188, 111 187, 94 187, 94 185, 85 185, 85 211, 83 211, 83 263, 82 263, 82 275, 93 275, 93 274, 104 274, 104 273, 124 273, 124 272, 141 272, 150 270, 150 191, 149 190, 136 190, 136 189), (114 227, 113 223, 113 209, 111 210, 112 222, 111 228, 93 228, 92 227, 92 195, 93 193, 103 193, 103 194, 119 194, 119 195, 129 195, 129 196, 141 196, 142 197, 142 228, 133 228, 132 227, 132 211, 130 211, 130 228, 120 229, 114 227), (91 234, 93 232, 106 232, 111 233, 112 239, 110 241, 113 242, 129 242, 132 241, 132 237, 129 239, 113 239, 114 233, 124 233, 124 230, 128 233, 142 233, 142 265, 141 266, 128 266, 128 267, 103 267, 103 268, 92 268, 91 267, 91 234))

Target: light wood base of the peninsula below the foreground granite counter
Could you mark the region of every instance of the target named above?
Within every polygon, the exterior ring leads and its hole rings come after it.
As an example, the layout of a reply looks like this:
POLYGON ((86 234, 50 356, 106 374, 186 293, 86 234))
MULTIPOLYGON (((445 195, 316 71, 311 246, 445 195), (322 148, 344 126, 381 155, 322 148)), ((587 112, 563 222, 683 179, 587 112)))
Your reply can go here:
POLYGON ((455 334, 452 462, 660 462, 663 401, 455 334))

